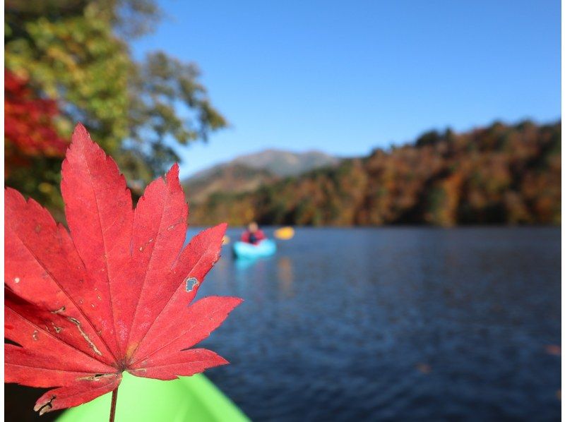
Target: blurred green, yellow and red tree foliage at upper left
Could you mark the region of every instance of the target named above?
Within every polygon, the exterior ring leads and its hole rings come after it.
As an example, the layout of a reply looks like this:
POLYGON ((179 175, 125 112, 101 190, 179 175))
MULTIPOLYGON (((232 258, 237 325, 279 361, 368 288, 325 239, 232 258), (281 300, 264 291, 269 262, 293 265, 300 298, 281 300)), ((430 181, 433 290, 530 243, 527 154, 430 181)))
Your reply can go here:
MULTIPOLYGON (((153 0, 8 0, 6 185, 61 209, 59 171, 81 121, 139 193, 179 157, 175 145, 227 125, 195 64, 128 42, 162 18, 153 0)), ((60 216, 60 215, 59 215, 60 216)))

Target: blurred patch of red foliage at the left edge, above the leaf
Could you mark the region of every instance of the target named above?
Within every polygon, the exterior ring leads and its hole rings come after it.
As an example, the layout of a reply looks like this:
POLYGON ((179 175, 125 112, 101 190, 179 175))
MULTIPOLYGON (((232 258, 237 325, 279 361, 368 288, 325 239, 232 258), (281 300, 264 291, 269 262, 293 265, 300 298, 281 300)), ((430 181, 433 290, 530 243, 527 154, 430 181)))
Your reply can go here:
POLYGON ((64 155, 68 145, 54 127, 57 102, 40 98, 28 81, 4 70, 4 136, 20 157, 64 155))

